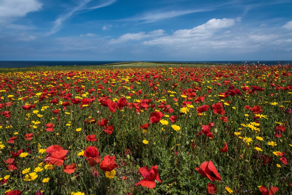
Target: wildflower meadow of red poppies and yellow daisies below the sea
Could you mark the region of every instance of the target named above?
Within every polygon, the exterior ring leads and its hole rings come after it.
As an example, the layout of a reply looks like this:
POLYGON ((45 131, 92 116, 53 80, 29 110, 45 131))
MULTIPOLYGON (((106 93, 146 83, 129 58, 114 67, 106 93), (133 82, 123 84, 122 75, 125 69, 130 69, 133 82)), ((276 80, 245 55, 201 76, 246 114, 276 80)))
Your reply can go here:
POLYGON ((0 194, 290 194, 291 65, 0 70, 0 194))

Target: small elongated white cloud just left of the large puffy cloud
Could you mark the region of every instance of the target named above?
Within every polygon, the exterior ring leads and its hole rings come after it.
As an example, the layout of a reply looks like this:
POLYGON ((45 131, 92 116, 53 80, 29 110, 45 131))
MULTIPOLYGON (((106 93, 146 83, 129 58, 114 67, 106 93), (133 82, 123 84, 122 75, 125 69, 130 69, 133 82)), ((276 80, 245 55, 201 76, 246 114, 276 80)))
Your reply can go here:
POLYGON ((164 35, 164 32, 165 32, 164 30, 158 29, 158 30, 151 31, 148 34, 146 34, 145 32, 127 33, 127 34, 123 34, 122 36, 120 36, 117 39, 111 39, 109 41, 109 43, 111 43, 111 44, 124 43, 126 41, 131 41, 131 40, 141 40, 141 39, 145 39, 148 37, 157 37, 157 36, 164 35))

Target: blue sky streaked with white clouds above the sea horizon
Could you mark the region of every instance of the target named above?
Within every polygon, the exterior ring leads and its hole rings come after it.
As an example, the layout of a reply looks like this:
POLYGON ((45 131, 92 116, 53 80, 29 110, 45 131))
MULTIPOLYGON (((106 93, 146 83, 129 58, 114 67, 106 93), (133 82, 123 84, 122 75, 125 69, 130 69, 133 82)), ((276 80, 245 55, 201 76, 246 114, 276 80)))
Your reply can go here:
POLYGON ((0 60, 292 60, 291 0, 1 0, 0 60))

